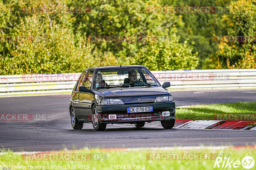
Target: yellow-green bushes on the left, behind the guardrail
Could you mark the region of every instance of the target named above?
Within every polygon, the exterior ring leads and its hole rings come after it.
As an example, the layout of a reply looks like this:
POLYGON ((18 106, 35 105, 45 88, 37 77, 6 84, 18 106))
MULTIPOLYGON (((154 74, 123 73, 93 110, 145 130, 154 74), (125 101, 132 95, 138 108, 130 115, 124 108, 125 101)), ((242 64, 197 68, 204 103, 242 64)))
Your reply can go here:
MULTIPOLYGON (((33 1, 26 3, 30 6, 33 1)), ((44 1, 37 1, 37 7, 63 6, 65 3, 67 2, 45 4, 44 1)), ((4 16, 7 23, 0 31, 3 35, 22 36, 24 39, 1 43, 0 74, 81 72, 83 67, 90 66, 93 55, 98 56, 99 53, 92 53, 92 47, 86 43, 85 35, 80 36, 79 39, 75 38, 72 27, 75 18, 71 15, 23 12, 20 16, 16 16, 14 15, 16 10, 13 9, 22 11, 24 3, 13 0, 9 5, 12 7, 11 10, 1 9, 12 15, 4 16), (84 60, 87 62, 83 62, 84 60), (76 67, 75 64, 80 67, 76 67)))

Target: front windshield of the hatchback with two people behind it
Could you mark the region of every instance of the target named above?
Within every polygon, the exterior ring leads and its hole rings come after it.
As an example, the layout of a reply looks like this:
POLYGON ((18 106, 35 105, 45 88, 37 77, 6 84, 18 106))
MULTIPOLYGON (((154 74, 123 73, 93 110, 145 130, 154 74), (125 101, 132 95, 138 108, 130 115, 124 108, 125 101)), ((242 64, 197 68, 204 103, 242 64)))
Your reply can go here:
POLYGON ((160 86, 156 78, 143 67, 98 69, 94 88, 160 86))

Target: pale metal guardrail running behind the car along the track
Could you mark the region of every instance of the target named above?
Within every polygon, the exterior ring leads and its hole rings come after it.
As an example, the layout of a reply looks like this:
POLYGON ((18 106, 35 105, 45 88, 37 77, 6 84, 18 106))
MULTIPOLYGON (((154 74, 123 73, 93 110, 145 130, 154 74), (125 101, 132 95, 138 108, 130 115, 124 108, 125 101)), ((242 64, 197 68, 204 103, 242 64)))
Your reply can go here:
MULTIPOLYGON (((255 89, 256 69, 151 71, 169 89, 255 89)), ((0 75, 0 95, 71 92, 81 73, 0 75)))

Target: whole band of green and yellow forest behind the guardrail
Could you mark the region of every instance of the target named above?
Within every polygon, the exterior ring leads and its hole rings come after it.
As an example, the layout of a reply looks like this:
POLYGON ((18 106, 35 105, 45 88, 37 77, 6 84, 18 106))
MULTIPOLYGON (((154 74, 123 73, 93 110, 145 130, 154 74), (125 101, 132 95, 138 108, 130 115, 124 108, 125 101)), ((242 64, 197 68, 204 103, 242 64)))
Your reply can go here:
POLYGON ((112 52, 122 65, 150 70, 256 68, 255 23, 254 0, 0 0, 0 75, 74 73, 118 65, 112 52), (213 10, 148 11, 163 6, 213 10), (87 11, 38 11, 43 7, 87 11), (103 36, 126 40, 100 40, 103 36), (233 41, 232 36, 250 39, 233 41), (134 37, 138 39, 129 40, 134 37))

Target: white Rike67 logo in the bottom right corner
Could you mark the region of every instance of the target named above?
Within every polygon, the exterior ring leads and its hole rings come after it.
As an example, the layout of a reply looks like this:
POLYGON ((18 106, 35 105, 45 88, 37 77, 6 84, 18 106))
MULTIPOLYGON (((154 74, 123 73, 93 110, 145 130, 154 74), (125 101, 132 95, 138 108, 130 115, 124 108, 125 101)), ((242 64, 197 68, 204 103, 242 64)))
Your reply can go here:
POLYGON ((231 168, 233 166, 234 168, 238 168, 241 164, 245 169, 251 169, 254 166, 254 159, 251 156, 245 156, 241 162, 240 160, 230 160, 230 157, 228 157, 228 160, 226 157, 224 159, 217 157, 213 167, 231 168))

